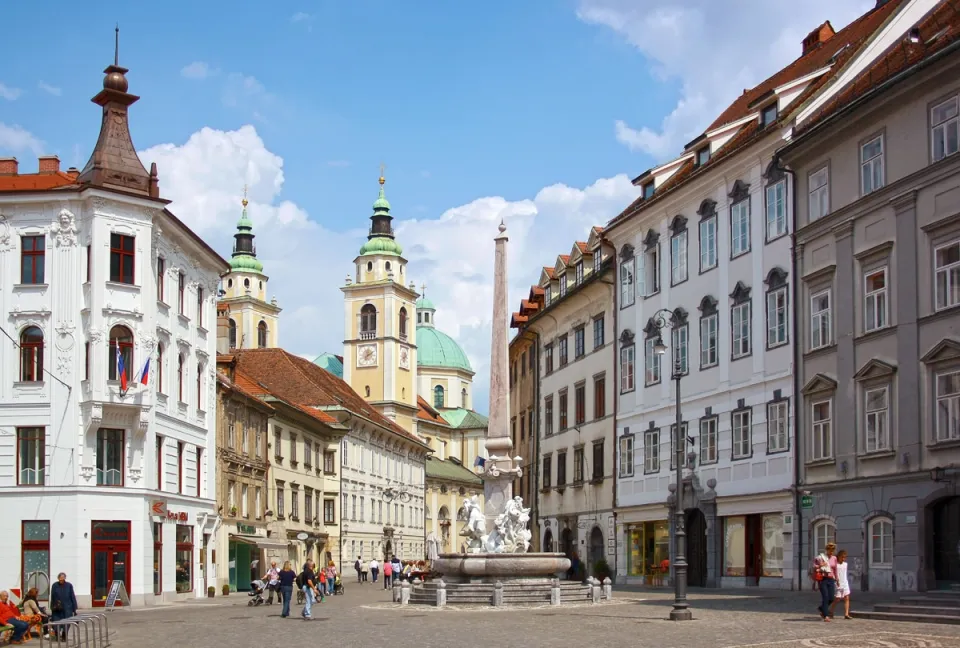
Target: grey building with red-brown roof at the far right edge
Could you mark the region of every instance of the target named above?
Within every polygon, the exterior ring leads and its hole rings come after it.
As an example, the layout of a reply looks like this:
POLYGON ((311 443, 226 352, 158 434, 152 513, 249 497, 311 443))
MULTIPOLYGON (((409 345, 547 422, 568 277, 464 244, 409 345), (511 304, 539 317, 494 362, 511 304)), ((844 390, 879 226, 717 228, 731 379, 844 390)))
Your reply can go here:
MULTIPOLYGON (((855 590, 960 583, 960 53, 940 3, 801 115, 796 451, 806 569, 855 590)), ((856 64, 854 64, 856 65, 856 64)))

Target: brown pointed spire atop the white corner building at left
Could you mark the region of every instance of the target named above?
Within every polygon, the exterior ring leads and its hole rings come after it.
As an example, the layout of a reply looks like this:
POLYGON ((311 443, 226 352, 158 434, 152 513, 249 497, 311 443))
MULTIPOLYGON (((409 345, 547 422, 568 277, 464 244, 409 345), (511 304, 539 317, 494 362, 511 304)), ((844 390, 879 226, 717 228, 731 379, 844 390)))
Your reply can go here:
POLYGON ((120 67, 120 28, 115 32, 114 64, 104 70, 103 90, 92 99, 103 107, 100 137, 79 182, 105 189, 159 197, 156 175, 144 168, 130 137, 128 109, 140 97, 127 92, 127 69, 120 67))

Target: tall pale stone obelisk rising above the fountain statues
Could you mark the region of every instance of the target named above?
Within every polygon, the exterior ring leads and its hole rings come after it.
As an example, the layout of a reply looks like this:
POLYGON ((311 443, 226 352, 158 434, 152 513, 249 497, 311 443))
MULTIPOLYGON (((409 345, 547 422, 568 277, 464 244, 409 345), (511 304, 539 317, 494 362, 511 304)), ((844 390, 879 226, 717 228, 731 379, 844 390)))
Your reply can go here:
POLYGON ((493 322, 490 328, 490 417, 487 426, 487 462, 484 466, 483 496, 487 528, 490 520, 503 512, 504 504, 513 496, 513 480, 517 478, 507 421, 510 418, 509 347, 507 343, 507 226, 500 222, 500 233, 494 239, 496 252, 493 266, 493 322))

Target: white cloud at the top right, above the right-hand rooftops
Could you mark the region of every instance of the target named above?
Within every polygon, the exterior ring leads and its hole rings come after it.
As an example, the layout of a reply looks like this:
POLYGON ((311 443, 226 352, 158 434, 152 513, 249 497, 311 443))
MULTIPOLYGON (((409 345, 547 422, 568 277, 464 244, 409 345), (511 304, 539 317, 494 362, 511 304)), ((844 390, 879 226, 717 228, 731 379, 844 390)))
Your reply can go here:
MULTIPOLYGON (((800 43, 824 20, 840 29, 874 0, 580 0, 580 20, 613 30, 646 57, 656 78, 679 86, 659 123, 615 123, 619 142, 665 161, 712 122, 744 88, 800 56, 800 43)), ((625 116, 628 117, 628 116, 625 116)))

